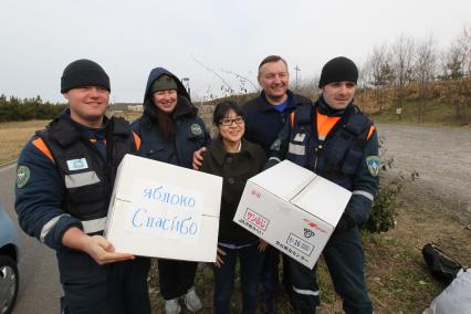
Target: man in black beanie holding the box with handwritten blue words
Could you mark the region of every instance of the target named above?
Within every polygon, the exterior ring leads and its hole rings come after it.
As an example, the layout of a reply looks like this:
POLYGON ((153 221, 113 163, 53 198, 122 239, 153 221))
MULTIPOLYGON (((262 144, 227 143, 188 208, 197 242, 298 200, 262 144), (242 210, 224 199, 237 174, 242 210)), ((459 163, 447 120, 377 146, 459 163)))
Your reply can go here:
POLYGON ((115 252, 102 236, 117 166, 140 144, 126 121, 105 117, 109 91, 97 63, 69 64, 69 108, 18 159, 15 211, 24 232, 56 251, 61 313, 150 313, 149 260, 115 252))

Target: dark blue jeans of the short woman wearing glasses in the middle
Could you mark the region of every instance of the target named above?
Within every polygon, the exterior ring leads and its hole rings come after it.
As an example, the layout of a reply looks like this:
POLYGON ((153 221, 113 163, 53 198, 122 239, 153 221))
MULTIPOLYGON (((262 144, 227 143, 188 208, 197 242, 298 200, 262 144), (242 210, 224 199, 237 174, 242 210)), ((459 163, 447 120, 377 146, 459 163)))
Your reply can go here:
POLYGON ((237 258, 240 261, 240 280, 242 287, 242 313, 255 313, 257 287, 260 271, 262 269, 264 253, 257 249, 257 244, 241 249, 228 249, 220 247, 226 255, 223 264, 213 266, 214 272, 214 313, 230 313, 230 301, 234 286, 237 258))

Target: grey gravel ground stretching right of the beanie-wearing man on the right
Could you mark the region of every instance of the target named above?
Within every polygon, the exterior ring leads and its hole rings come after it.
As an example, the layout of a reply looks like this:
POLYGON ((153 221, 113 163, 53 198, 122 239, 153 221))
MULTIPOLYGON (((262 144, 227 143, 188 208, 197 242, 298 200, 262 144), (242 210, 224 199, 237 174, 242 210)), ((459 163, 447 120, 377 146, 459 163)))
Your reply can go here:
POLYGON ((471 128, 377 125, 391 174, 419 172, 414 186, 449 201, 451 211, 471 222, 471 128))

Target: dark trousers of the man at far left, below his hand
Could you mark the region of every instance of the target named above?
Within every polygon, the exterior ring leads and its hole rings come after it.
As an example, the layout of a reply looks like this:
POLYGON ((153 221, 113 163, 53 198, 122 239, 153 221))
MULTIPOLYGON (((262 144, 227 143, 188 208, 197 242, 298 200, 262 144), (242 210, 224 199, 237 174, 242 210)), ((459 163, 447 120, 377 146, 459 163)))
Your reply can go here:
POLYGON ((86 253, 63 248, 57 251, 57 261, 65 294, 63 313, 150 313, 149 259, 98 265, 86 253))

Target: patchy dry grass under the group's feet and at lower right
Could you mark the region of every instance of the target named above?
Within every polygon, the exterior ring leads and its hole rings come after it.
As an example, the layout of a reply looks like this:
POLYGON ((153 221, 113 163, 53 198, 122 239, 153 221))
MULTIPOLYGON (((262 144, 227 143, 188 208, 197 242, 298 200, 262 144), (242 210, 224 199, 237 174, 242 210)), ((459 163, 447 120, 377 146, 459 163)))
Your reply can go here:
MULTIPOLYGON (((452 200, 433 199, 414 184, 401 195, 396 229, 381 234, 364 234, 366 281, 375 313, 422 313, 443 289, 429 273, 421 248, 437 242, 463 265, 471 265, 471 231, 447 211, 457 206, 452 200)), ((280 272, 281 273, 281 272, 280 272)), ((318 265, 321 306, 317 313, 343 313, 342 300, 335 294, 327 268, 318 265)), ((153 313, 163 313, 164 302, 158 290, 157 268, 150 274, 153 313)), ((211 313, 212 272, 200 265, 196 279, 202 302, 200 313, 211 313)), ((281 289, 282 290, 282 289, 281 289)), ((279 314, 294 313, 284 293, 279 296, 279 314)), ((231 313, 240 313, 240 282, 231 302, 231 313)), ((189 313, 184 311, 182 313, 189 313)), ((258 313, 261 313, 260 311, 258 313)))

